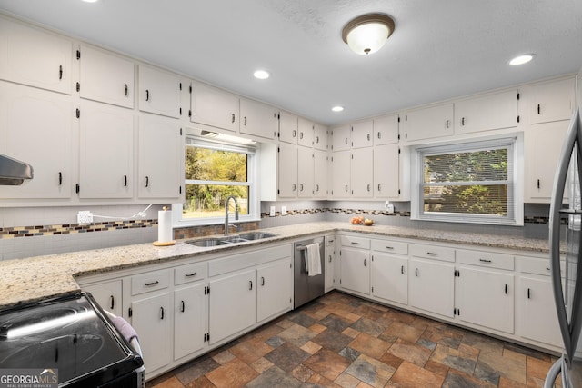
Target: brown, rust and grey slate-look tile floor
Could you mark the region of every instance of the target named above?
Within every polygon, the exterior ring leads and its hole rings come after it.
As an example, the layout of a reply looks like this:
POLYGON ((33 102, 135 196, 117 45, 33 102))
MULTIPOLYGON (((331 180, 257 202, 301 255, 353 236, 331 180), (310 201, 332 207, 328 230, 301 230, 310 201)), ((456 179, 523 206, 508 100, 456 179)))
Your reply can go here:
POLYGON ((555 360, 332 292, 146 387, 542 387, 555 360))

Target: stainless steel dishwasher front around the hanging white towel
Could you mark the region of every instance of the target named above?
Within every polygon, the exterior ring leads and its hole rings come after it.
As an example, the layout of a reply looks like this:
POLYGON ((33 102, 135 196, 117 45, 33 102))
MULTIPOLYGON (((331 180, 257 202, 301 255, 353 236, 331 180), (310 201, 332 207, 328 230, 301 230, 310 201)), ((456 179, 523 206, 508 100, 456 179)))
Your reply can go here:
POLYGON ((317 237, 310 240, 298 241, 294 244, 295 276, 293 282, 294 307, 313 301, 324 294, 325 267, 324 267, 324 238, 317 237), (306 269, 306 246, 319 244, 319 260, 321 260, 321 274, 308 276, 306 269))

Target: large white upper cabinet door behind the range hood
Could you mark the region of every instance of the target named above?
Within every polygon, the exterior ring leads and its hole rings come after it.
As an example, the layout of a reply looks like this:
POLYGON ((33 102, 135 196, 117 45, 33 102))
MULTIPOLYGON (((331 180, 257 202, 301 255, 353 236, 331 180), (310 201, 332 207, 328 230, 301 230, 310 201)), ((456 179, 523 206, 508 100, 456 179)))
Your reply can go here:
POLYGON ((69 96, 0 81, 0 152, 34 174, 21 186, 0 186, 0 197, 71 196, 74 112, 69 96))

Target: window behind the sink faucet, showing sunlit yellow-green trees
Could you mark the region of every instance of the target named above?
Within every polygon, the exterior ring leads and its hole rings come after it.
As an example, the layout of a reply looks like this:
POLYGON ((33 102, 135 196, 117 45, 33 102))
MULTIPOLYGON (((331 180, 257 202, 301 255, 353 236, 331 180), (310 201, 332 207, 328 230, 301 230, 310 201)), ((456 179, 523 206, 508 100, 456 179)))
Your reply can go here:
MULTIPOLYGON (((180 226, 225 222, 225 203, 230 195, 238 204, 239 221, 258 217, 256 149, 251 144, 228 144, 186 136, 186 200, 175 205, 180 226), (176 209, 177 207, 177 209, 176 209)), ((229 214, 235 213, 229 201, 229 214)))

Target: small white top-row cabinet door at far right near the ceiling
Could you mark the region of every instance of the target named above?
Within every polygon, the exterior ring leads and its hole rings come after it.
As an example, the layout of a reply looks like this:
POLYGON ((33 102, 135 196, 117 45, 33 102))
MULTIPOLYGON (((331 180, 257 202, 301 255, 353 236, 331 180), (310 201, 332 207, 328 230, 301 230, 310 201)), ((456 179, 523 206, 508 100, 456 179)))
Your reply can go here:
POLYGON ((533 85, 529 99, 531 124, 572 118, 575 86, 576 79, 574 77, 533 85))

